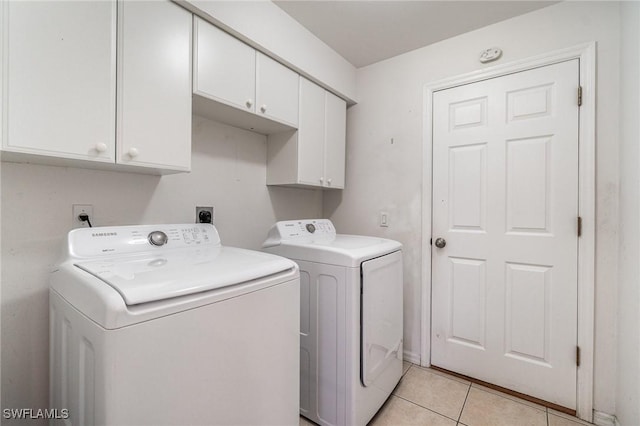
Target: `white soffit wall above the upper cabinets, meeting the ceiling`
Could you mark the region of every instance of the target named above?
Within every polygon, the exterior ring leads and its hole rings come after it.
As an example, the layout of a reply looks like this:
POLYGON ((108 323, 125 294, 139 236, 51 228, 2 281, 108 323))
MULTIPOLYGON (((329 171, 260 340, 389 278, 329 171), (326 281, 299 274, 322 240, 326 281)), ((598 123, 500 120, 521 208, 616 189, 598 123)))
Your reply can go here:
POLYGON ((350 102, 356 69, 270 1, 187 0, 178 3, 350 102))

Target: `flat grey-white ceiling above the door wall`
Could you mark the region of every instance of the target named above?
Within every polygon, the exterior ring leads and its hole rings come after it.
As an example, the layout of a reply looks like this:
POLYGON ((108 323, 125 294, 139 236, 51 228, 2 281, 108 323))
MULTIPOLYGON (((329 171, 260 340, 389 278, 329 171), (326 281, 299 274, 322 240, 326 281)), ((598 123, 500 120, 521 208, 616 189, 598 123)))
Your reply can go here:
POLYGON ((274 1, 360 68, 557 1, 274 1))

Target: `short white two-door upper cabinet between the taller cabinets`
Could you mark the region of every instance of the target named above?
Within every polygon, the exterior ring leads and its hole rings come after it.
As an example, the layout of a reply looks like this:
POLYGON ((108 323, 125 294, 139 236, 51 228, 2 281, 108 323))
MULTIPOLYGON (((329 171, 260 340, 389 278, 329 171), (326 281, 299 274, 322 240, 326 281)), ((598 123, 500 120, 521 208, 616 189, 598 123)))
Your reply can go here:
POLYGON ((194 112, 261 133, 298 126, 296 72, 194 17, 194 112))

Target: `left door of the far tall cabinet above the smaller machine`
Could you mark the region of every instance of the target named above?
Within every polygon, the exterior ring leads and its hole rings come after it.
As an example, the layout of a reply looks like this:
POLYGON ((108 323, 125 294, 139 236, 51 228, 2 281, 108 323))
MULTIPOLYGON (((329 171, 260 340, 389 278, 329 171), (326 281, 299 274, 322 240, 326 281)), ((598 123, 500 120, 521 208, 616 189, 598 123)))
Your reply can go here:
POLYGON ((324 92, 322 87, 300 78, 298 183, 301 184, 324 183, 324 92))

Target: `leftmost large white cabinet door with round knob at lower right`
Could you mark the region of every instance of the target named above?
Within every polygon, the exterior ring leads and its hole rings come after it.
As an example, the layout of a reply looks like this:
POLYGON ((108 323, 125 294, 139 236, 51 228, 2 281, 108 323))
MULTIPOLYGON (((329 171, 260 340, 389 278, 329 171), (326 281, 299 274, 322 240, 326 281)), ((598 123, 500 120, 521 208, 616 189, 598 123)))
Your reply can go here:
POLYGON ((8 1, 3 149, 113 162, 116 4, 8 1))

